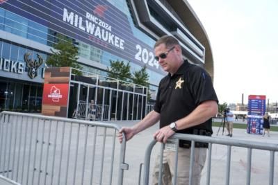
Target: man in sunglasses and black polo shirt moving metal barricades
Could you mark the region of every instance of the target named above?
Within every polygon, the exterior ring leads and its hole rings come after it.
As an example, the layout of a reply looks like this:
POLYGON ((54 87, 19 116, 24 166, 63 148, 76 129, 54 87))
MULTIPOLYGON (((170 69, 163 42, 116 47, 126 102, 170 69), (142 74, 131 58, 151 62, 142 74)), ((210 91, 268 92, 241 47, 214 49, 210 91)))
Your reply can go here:
MULTIPOLYGON (((122 132, 126 140, 160 121, 160 129, 154 133, 154 138, 166 143, 174 133, 212 134, 211 117, 218 113, 218 98, 213 89, 208 73, 187 60, 183 60, 181 46, 172 36, 163 36, 154 45, 156 60, 168 72, 159 83, 156 105, 133 127, 122 127, 118 138, 122 141, 122 132)), ((167 143, 166 143, 167 146, 167 143)), ((193 167, 193 184, 199 184, 201 171, 206 160, 206 143, 196 143, 193 167)), ((166 147, 167 148, 167 147, 166 147)), ((175 152, 165 150, 166 166, 174 174, 175 152)), ((188 184, 190 164, 190 142, 181 141, 178 149, 177 184, 188 184)), ((171 184, 170 174, 164 171, 166 178, 163 184, 171 184)), ((157 184, 158 165, 154 169, 153 184, 157 184)))

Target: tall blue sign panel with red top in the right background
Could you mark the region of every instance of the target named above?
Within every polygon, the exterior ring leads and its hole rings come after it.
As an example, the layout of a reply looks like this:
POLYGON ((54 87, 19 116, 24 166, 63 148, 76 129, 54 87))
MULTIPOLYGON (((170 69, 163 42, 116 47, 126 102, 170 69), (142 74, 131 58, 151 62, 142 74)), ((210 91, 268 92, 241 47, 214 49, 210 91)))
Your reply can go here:
POLYGON ((265 114, 265 96, 248 96, 247 133, 263 133, 263 115, 265 114))

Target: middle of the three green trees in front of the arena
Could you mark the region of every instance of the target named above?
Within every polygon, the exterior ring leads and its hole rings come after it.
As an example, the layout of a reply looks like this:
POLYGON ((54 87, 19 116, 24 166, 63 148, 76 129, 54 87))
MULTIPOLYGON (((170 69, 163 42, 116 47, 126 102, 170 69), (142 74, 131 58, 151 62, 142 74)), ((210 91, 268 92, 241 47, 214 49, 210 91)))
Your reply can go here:
POLYGON ((110 67, 107 67, 108 77, 129 82, 131 81, 130 67, 130 64, 124 64, 124 61, 110 60, 110 67))

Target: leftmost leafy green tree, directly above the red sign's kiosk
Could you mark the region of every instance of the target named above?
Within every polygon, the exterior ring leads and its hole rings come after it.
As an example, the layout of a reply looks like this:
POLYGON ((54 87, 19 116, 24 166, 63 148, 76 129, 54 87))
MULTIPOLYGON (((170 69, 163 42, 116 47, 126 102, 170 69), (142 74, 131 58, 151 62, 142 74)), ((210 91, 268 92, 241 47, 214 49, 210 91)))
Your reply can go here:
POLYGON ((82 69, 77 63, 78 48, 72 44, 72 40, 63 35, 58 35, 58 42, 54 44, 54 49, 50 49, 52 55, 47 60, 49 67, 73 67, 82 69))

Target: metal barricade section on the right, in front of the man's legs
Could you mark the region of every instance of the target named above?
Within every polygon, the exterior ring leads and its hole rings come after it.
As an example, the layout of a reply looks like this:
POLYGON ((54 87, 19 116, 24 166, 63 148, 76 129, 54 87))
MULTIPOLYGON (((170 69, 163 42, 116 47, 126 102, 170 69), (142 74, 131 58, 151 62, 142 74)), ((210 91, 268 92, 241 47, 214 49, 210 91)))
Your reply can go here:
MULTIPOLYGON (((247 185, 250 185, 251 183, 251 170, 252 170, 252 153, 254 155, 254 152, 252 150, 265 150, 268 151, 269 156, 269 172, 268 172, 268 184, 273 185, 274 184, 274 171, 275 171, 275 152, 278 151, 278 144, 273 143, 263 143, 263 142, 250 142, 250 141, 244 141, 244 140, 236 140, 236 139, 224 139, 224 138, 218 138, 213 136, 199 136, 199 135, 193 135, 193 134, 174 134, 170 139, 175 139, 177 142, 179 142, 179 139, 191 141, 191 150, 190 150, 190 156, 194 156, 195 153, 195 142, 204 142, 208 143, 208 155, 207 155, 207 161, 206 161, 206 184, 211 184, 211 159, 212 159, 212 148, 215 145, 221 145, 227 147, 227 155, 226 157, 226 167, 223 169, 223 172, 225 172, 224 182, 221 184, 230 184, 230 174, 231 174, 231 148, 232 147, 238 147, 247 149, 246 157, 247 157, 247 164, 245 166, 246 168, 246 183, 247 185)), ((144 174, 143 174, 143 184, 148 185, 149 184, 149 166, 150 166, 150 159, 151 159, 151 153, 152 149, 156 145, 156 140, 149 143, 149 146, 147 147, 147 150, 145 152, 145 166, 144 166, 144 174)), ((159 169, 159 182, 158 184, 161 184, 162 182, 162 162, 163 162, 163 151, 165 148, 165 144, 161 143, 161 150, 160 150, 160 169, 159 169)), ((177 151, 178 145, 176 145, 176 151, 177 151)), ((175 155, 175 166, 174 166, 174 179, 173 184, 177 184, 177 152, 175 155)), ((262 159, 265 160, 265 159, 262 159)), ((219 169, 218 169, 219 170, 219 169)), ((190 168, 189 168, 189 184, 192 184, 192 175, 193 175, 193 157, 190 157, 190 168)), ((243 180, 243 179, 241 179, 243 180)), ((139 177, 140 182, 140 177, 139 177)), ((266 184, 267 182, 265 182, 266 184)), ((276 182, 275 182, 276 183, 276 182)), ((242 183, 243 184, 243 183, 242 183)))

